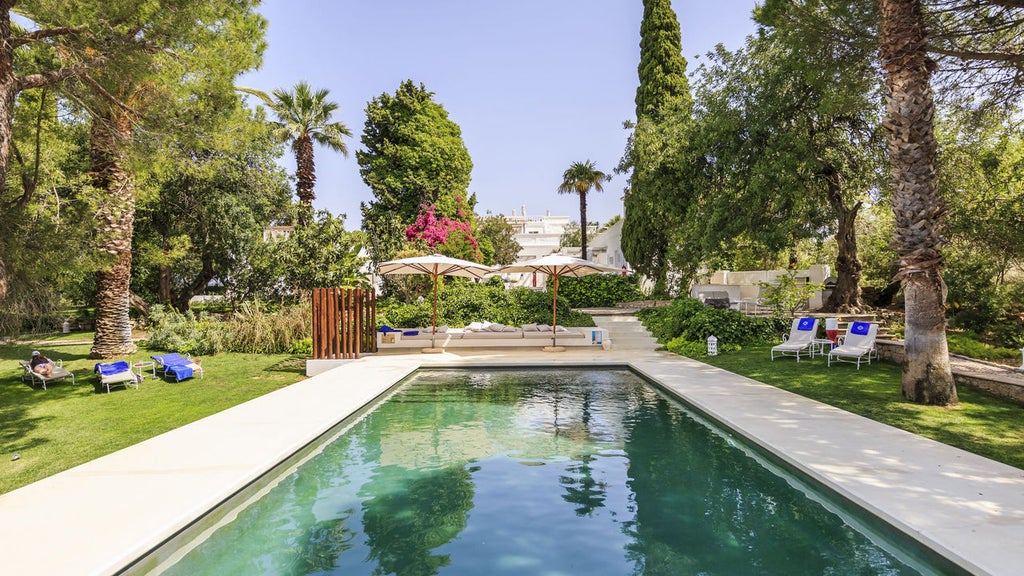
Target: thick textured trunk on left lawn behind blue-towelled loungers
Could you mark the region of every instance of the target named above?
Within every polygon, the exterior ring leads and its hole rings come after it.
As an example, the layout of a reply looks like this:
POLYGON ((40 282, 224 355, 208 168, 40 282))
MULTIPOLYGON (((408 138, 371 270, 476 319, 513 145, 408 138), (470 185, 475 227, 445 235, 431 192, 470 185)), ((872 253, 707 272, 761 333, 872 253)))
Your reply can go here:
POLYGON ((131 124, 123 114, 94 118, 89 137, 93 183, 106 191, 96 210, 98 250, 113 258, 96 273, 96 335, 90 358, 134 354, 131 339, 131 239, 135 224, 135 177, 124 152, 131 124))

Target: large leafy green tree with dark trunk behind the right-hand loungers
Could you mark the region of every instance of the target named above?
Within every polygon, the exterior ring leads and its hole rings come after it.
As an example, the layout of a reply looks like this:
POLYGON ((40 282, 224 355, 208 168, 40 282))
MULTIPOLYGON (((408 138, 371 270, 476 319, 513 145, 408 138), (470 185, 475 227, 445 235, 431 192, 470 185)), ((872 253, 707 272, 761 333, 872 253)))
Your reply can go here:
POLYGON ((856 218, 883 180, 872 59, 771 27, 712 56, 683 140, 692 175, 675 203, 679 257, 694 268, 742 237, 788 250, 795 268, 800 241, 835 235, 839 280, 825 310, 860 308, 856 218))

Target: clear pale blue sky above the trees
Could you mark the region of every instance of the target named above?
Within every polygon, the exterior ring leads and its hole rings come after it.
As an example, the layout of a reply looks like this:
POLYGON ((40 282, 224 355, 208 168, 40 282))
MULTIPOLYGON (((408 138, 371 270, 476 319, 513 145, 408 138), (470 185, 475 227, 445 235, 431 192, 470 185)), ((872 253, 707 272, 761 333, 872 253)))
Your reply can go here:
MULTIPOLYGON (((754 32, 755 0, 675 0, 683 55, 716 44, 736 48, 754 32)), ((269 92, 299 81, 330 90, 335 119, 353 137, 344 158, 315 150, 316 208, 359 227, 359 202, 373 199, 359 178, 367 102, 406 79, 423 83, 462 127, 473 159, 477 212, 580 217, 579 200, 556 193, 574 161, 611 173, 634 117, 641 0, 266 0, 263 67, 239 84, 269 92)), ((253 99, 250 97, 250 99, 253 99)), ((294 174, 289 151, 282 165, 294 174)), ((622 213, 626 179, 589 196, 588 219, 622 213)))

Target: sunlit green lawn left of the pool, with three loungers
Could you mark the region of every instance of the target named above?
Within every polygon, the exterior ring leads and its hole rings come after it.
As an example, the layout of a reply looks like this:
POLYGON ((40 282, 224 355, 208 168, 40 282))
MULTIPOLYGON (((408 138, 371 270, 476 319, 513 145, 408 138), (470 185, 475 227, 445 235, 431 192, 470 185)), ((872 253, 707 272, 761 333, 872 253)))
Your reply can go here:
MULTIPOLYGON (((110 454, 303 378, 304 364, 287 355, 204 357, 205 378, 153 380, 106 394, 93 375, 89 345, 0 346, 0 493, 110 454), (62 359, 78 381, 44 390, 20 380, 33 349, 62 359), (14 454, 20 456, 12 460, 14 454)), ((140 349, 130 360, 148 360, 140 349)), ((128 359, 126 359, 128 360, 128 359)))

